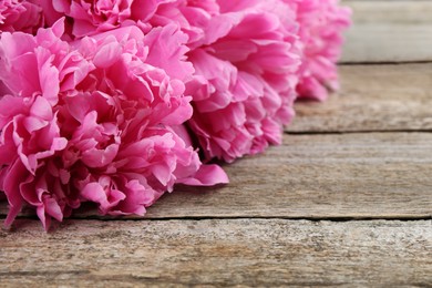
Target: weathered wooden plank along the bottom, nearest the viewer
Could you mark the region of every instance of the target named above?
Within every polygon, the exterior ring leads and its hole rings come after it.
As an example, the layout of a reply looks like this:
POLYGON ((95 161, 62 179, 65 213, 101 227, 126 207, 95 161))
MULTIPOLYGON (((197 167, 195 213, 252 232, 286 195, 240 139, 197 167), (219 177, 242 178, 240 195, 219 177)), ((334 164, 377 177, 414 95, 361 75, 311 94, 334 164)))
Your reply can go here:
POLYGON ((432 284, 432 222, 70 220, 0 232, 1 286, 432 284))

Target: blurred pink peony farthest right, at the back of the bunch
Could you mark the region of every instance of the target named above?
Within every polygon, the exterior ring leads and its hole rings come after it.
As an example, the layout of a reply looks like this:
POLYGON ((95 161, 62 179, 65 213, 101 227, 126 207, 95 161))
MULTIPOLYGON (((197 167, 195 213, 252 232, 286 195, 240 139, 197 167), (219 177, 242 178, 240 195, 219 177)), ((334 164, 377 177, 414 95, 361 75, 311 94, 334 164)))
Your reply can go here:
POLYGON ((322 101, 328 90, 339 88, 336 62, 351 11, 339 7, 338 0, 298 0, 296 7, 304 53, 297 92, 300 97, 322 101))

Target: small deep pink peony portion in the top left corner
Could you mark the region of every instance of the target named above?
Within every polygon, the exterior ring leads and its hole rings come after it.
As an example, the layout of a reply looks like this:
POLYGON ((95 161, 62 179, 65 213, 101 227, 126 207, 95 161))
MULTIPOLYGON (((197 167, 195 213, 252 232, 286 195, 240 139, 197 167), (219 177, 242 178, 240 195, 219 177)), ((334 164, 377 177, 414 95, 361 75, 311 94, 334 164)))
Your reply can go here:
POLYGON ((42 8, 39 6, 39 0, 0 1, 0 32, 33 33, 42 24, 42 8))

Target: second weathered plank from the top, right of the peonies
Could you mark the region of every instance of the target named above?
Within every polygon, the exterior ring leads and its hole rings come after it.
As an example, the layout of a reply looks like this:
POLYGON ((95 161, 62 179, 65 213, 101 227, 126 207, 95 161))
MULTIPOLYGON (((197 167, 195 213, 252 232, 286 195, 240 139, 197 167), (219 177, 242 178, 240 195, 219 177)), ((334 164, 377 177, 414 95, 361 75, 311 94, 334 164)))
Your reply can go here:
POLYGON ((342 65, 340 75, 339 94, 296 104, 288 132, 432 130, 432 63, 342 65))

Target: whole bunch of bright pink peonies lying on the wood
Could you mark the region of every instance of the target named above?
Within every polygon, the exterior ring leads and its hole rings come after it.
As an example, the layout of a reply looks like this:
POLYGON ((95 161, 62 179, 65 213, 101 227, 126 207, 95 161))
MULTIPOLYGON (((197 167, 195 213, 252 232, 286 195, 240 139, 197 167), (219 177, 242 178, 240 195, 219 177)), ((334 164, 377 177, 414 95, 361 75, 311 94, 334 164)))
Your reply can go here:
POLYGON ((83 202, 144 215, 280 144, 297 97, 338 88, 337 0, 0 2, 0 197, 45 229, 83 202))

